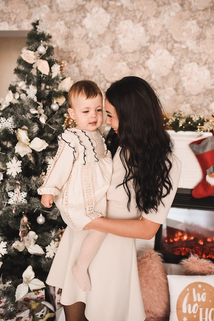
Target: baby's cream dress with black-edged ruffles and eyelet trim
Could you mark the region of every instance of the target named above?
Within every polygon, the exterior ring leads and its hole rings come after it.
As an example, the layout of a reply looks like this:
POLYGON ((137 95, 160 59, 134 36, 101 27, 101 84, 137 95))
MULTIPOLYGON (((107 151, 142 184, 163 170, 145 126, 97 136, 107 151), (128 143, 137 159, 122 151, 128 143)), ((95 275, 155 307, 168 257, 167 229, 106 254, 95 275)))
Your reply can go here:
POLYGON ((64 222, 82 230, 106 215, 105 193, 112 177, 112 157, 97 129, 68 128, 58 136, 58 149, 38 194, 54 195, 64 222))

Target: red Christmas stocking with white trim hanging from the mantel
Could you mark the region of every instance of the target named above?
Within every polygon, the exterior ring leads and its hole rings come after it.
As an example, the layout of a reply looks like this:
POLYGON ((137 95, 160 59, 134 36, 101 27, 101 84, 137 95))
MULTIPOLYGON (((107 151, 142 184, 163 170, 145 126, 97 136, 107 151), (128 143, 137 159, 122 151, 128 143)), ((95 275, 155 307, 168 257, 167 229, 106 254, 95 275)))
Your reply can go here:
POLYGON ((214 195, 214 136, 199 139, 189 144, 202 169, 203 178, 192 190, 195 198, 214 195))

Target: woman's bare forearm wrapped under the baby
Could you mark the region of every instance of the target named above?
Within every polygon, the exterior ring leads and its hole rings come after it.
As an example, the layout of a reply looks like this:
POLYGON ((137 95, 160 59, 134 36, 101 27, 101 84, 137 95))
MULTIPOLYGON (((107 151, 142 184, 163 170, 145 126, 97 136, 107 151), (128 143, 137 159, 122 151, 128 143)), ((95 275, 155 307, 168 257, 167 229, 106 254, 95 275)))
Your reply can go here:
POLYGON ((99 217, 83 230, 95 229, 101 232, 111 233, 123 237, 151 239, 157 233, 160 224, 152 222, 145 217, 142 219, 112 219, 99 217))

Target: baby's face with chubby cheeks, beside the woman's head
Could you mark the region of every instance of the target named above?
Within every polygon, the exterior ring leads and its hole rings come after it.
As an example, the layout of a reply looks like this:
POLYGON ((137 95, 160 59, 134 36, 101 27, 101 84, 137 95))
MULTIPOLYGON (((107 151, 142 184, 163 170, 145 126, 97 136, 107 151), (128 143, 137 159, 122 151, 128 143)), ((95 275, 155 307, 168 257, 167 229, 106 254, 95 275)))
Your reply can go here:
POLYGON ((75 128, 94 131, 102 125, 102 96, 86 98, 84 95, 72 97, 72 106, 68 112, 77 126, 75 128))

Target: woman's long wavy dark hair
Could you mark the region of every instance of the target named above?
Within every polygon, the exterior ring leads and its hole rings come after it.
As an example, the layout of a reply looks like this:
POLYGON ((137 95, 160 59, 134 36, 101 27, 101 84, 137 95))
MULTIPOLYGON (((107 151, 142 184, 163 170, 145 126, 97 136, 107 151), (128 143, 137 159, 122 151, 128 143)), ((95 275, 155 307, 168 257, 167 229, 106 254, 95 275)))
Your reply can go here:
POLYGON ((173 144, 164 129, 163 109, 154 89, 142 78, 129 76, 113 83, 105 98, 115 107, 118 134, 110 130, 106 144, 114 154, 121 146, 120 158, 125 168, 123 187, 129 196, 133 179, 136 203, 140 211, 157 212, 158 205, 172 189, 169 156, 173 144))

